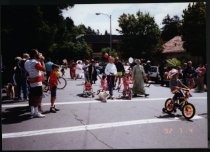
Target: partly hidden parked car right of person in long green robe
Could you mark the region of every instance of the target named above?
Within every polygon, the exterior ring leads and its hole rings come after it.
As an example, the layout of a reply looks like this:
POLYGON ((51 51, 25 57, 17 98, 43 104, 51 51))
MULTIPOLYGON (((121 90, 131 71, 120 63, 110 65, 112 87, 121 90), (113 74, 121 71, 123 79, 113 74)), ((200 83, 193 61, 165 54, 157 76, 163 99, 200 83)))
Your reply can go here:
POLYGON ((158 83, 160 81, 160 72, 158 66, 151 66, 148 71, 149 79, 158 83))

